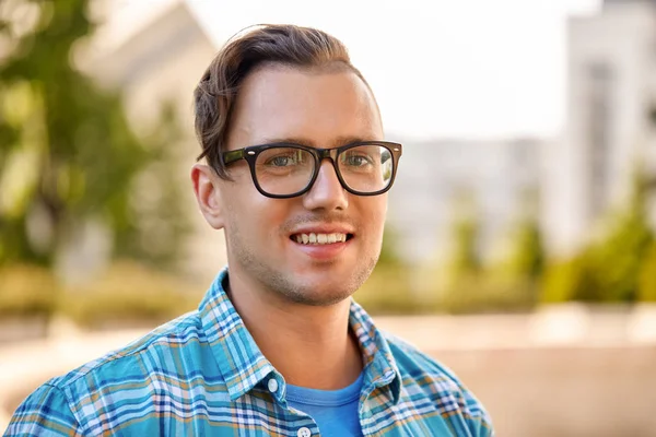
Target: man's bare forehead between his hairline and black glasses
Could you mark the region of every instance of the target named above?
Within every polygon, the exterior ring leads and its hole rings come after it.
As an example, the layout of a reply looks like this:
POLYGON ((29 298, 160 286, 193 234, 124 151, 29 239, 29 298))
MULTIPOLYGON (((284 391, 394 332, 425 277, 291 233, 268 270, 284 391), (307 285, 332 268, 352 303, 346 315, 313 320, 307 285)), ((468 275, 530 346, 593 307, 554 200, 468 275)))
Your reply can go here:
POLYGON ((234 109, 230 149, 274 139, 327 147, 383 135, 373 94, 345 69, 308 73, 277 66, 258 70, 243 83, 234 109))

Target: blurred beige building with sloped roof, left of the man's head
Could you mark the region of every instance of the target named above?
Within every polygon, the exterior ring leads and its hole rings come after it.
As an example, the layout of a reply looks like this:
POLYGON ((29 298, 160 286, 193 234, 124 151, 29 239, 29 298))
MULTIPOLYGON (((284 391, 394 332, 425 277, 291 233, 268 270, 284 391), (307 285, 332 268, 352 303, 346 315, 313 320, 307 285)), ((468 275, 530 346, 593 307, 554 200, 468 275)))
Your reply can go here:
MULTIPOLYGON (((178 179, 186 197, 194 231, 186 246, 184 270, 208 283, 226 262, 223 233, 212 229, 198 211, 189 170, 200 146, 194 132, 192 94, 198 80, 216 52, 183 0, 95 3, 98 28, 83 68, 101 82, 121 88, 128 119, 136 131, 156 121, 163 104, 177 109, 184 140, 176 153, 178 179), (137 11, 131 8, 148 8, 137 11)), ((166 211, 162 211, 166 214, 166 211)))

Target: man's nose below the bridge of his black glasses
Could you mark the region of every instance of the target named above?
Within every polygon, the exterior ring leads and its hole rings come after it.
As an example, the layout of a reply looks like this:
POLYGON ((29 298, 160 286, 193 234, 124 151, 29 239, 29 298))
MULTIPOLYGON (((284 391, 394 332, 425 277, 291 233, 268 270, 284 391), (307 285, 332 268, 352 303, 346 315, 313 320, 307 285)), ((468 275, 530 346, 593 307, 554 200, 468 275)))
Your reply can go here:
POLYGON ((303 205, 308 210, 345 210, 349 206, 347 190, 337 177, 329 160, 323 160, 314 185, 303 196, 303 205))

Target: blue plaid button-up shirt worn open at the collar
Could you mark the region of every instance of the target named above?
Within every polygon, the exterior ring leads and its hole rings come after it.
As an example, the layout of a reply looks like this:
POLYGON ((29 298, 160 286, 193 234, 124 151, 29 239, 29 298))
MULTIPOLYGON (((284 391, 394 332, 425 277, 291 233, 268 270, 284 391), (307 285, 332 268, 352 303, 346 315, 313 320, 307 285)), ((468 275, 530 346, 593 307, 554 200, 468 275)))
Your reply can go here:
MULTIPOLYGON (((283 376, 223 291, 226 275, 197 311, 36 389, 5 435, 319 436, 311 416, 288 405, 283 376)), ((493 435, 449 370, 384 335, 355 303, 350 326, 363 353, 365 436, 493 435)))

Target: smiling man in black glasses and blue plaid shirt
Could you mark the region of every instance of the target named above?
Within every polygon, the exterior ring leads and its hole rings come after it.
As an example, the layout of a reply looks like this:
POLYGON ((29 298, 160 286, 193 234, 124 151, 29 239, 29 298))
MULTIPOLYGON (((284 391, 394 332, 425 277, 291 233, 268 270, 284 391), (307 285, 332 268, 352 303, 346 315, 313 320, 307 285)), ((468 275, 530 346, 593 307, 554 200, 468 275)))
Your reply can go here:
POLYGON ((195 99, 194 191, 229 268, 198 311, 37 389, 8 434, 492 435, 453 374, 350 298, 379 256, 401 145, 344 46, 260 26, 195 99))

